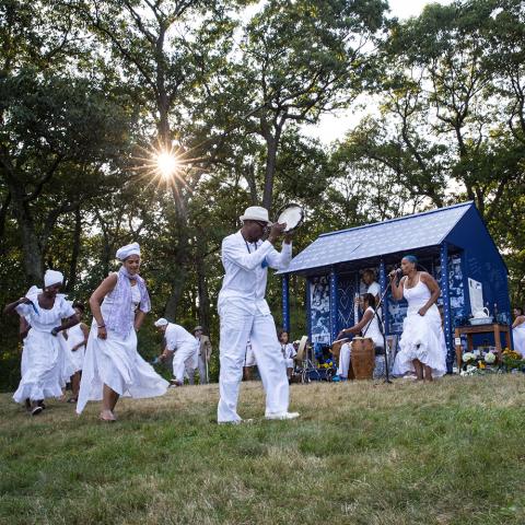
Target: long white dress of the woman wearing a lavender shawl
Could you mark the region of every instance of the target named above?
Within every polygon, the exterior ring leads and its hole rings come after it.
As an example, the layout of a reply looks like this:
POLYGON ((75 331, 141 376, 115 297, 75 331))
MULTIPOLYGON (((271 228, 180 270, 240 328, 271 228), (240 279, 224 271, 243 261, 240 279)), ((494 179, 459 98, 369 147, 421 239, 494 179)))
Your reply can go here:
MULTIPOLYGON (((133 312, 140 303, 139 287, 131 287, 133 312)), ((113 304, 107 294, 101 305, 103 318, 107 318, 113 304)), ((93 319, 85 349, 82 380, 80 382, 77 413, 82 413, 88 401, 103 398, 104 385, 125 397, 156 397, 166 393, 168 382, 163 380, 137 351, 137 332, 132 327, 126 337, 107 330, 107 338, 97 337, 97 324, 93 319)))

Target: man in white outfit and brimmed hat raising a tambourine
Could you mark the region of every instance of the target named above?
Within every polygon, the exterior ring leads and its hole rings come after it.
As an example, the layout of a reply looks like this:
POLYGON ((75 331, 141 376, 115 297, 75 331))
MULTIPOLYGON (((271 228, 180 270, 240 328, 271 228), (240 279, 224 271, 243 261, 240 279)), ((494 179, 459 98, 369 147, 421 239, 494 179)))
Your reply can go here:
POLYGON ((221 320, 219 376, 219 423, 241 423, 237 399, 246 346, 250 340, 266 392, 267 419, 294 419, 289 412, 289 385, 276 324, 265 300, 268 267, 284 269, 292 258, 291 236, 287 234, 281 253, 273 247, 285 224, 271 225, 268 210, 247 208, 243 228, 222 242, 225 275, 219 293, 221 320), (261 241, 271 226, 267 241, 261 241))

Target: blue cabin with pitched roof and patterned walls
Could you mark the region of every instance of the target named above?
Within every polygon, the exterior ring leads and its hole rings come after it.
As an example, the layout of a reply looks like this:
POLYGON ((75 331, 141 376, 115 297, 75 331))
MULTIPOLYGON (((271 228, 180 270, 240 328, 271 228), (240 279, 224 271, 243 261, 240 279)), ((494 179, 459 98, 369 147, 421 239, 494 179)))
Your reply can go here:
MULTIPOLYGON (((402 255, 418 257, 421 269, 438 280, 448 349, 455 359, 453 329, 468 323, 475 310, 488 307, 504 324, 511 320, 508 268, 474 202, 319 235, 298 254, 282 275, 283 325, 290 329, 289 276, 306 279, 308 337, 330 345, 354 324, 354 296, 364 293, 361 272, 373 269, 382 291, 402 255)), ((383 307, 387 335, 399 335, 405 302, 389 292, 383 307)))

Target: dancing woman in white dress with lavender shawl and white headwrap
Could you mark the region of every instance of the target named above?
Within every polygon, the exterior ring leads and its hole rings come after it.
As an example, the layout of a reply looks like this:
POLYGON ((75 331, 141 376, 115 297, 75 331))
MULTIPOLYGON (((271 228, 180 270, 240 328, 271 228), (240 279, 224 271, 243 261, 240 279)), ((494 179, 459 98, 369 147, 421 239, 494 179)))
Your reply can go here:
POLYGON ((90 299, 93 325, 77 404, 81 413, 89 400, 102 399, 104 421, 116 420, 120 396, 162 396, 168 387, 137 351, 137 331, 150 311, 148 290, 139 276, 139 245, 121 247, 117 259, 122 261, 118 272, 106 277, 90 299))

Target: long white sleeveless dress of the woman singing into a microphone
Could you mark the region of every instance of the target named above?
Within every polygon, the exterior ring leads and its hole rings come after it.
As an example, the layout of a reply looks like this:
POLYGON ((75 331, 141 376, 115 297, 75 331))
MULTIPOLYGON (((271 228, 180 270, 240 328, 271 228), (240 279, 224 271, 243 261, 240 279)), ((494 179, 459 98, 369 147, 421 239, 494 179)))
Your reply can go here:
POLYGON ((443 347, 440 311, 433 304, 423 316, 419 315, 418 312, 431 296, 429 287, 421 282, 421 278, 413 288, 404 287, 404 296, 408 302, 408 311, 393 372, 395 375, 415 372, 412 360, 417 359, 432 369, 434 377, 440 377, 446 373, 446 347, 443 347))

